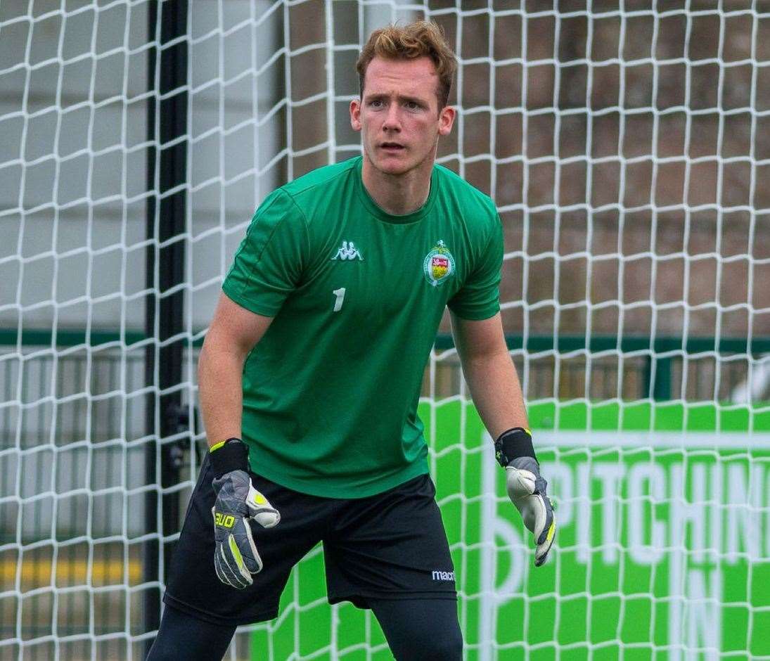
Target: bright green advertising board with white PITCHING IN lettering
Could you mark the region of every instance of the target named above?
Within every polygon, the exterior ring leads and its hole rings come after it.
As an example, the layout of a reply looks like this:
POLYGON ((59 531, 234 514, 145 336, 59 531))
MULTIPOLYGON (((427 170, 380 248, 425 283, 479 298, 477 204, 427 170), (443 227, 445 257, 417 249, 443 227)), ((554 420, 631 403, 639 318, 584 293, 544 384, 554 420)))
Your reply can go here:
MULTIPOLYGON (((529 414, 557 507, 541 568, 473 406, 421 404, 466 658, 770 658, 770 416, 681 404, 529 414)), ((392 659, 370 612, 326 603, 320 549, 252 654, 392 659)))

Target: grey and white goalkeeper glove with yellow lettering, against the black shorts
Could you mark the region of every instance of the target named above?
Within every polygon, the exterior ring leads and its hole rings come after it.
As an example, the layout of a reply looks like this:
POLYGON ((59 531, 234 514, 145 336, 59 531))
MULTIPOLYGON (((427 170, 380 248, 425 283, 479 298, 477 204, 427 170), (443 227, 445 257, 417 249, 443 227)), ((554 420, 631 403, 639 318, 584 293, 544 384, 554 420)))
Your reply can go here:
POLYGON ((253 582, 252 574, 262 570, 249 518, 263 528, 273 528, 280 514, 259 493, 249 477, 249 448, 239 438, 228 438, 210 450, 215 478, 214 569, 227 586, 243 589, 253 582))

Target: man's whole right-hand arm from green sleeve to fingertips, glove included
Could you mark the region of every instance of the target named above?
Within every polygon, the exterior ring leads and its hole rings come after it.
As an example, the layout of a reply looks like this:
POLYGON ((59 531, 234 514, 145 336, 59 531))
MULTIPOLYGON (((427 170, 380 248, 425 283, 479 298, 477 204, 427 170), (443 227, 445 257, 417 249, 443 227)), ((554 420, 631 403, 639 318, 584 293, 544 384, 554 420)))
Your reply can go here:
POLYGON ((542 565, 556 534, 547 482, 540 475, 524 397, 505 344, 500 314, 481 321, 452 316, 454 344, 474 404, 505 467, 506 488, 524 525, 534 534, 534 564, 542 565))

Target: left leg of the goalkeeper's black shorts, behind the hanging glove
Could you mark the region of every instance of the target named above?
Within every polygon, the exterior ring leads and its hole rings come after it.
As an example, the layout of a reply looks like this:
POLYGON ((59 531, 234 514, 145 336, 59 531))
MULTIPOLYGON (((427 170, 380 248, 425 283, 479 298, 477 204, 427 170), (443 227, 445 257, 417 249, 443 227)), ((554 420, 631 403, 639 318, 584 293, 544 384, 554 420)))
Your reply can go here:
POLYGON ((236 589, 219 581, 214 570, 213 477, 206 455, 174 549, 163 601, 219 625, 274 619, 293 565, 321 539, 324 504, 252 474, 254 485, 280 512, 281 520, 274 528, 249 521, 263 569, 252 576, 251 586, 236 589))

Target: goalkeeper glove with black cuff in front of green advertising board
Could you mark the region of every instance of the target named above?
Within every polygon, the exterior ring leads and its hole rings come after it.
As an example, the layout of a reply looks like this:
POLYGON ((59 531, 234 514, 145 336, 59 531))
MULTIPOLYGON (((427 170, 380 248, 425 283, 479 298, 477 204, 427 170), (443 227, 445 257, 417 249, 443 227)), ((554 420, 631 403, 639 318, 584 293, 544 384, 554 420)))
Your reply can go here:
POLYGON ((545 493, 547 482, 540 475, 534 456, 532 436, 521 427, 504 431, 494 443, 495 456, 505 468, 508 497, 516 505, 524 525, 534 534, 537 548, 534 564, 547 559, 556 536, 556 519, 551 498, 545 493))

